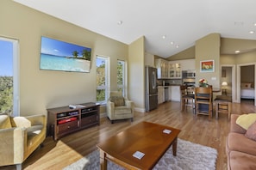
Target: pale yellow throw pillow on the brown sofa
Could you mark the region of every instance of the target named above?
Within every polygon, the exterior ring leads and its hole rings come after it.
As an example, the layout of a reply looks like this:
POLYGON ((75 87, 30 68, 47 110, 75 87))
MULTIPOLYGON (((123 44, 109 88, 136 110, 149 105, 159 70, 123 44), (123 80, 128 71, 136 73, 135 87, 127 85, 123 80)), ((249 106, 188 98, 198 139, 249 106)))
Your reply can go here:
POLYGON ((242 114, 236 119, 236 124, 245 130, 256 121, 256 113, 242 114))

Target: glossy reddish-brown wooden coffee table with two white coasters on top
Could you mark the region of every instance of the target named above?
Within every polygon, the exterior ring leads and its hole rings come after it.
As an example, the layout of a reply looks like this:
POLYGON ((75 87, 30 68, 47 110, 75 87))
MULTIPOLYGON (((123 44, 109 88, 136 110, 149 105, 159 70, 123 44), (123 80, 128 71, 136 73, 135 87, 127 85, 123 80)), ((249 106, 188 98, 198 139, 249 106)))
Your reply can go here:
POLYGON ((165 151, 172 145, 172 154, 177 152, 177 138, 180 130, 172 127, 140 122, 97 144, 100 149, 101 169, 107 169, 107 160, 127 169, 152 169, 165 151), (169 134, 164 131, 172 131, 169 134), (145 154, 135 158, 136 151, 145 154))

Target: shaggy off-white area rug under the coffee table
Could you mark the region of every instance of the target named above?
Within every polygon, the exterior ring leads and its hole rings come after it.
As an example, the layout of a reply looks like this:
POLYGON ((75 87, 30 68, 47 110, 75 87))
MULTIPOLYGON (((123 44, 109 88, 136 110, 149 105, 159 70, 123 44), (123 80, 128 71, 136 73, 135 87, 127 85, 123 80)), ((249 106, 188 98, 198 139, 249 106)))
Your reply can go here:
MULTIPOLYGON (((154 170, 215 170, 216 149, 178 139, 177 156, 172 155, 172 146, 153 167, 154 170)), ((108 169, 124 170, 123 167, 108 161, 108 169)), ((100 169, 99 151, 93 151, 64 170, 100 169)))

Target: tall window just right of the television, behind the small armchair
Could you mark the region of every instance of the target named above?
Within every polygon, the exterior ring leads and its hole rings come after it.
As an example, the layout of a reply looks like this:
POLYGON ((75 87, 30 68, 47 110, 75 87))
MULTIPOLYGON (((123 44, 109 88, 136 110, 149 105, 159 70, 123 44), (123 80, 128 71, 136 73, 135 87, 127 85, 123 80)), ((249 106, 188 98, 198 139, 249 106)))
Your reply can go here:
POLYGON ((109 96, 109 58, 97 56, 97 102, 106 103, 109 96))

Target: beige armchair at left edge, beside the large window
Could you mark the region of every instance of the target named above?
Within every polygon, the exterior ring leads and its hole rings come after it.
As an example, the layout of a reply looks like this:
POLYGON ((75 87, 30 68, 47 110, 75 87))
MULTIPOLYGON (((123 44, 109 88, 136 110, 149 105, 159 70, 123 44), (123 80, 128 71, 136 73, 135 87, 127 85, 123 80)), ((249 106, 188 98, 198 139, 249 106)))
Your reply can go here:
POLYGON ((22 169, 22 162, 45 140, 46 128, 45 115, 0 115, 0 166, 16 165, 22 169))

